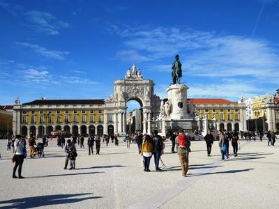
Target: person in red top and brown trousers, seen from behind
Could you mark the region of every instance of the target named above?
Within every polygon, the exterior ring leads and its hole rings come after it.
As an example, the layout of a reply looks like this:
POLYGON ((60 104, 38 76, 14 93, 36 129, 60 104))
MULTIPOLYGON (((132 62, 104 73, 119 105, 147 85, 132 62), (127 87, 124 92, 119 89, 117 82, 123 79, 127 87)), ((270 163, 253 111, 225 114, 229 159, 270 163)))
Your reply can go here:
POLYGON ((186 177, 189 167, 190 139, 186 137, 183 130, 179 130, 179 135, 175 139, 177 145, 177 154, 181 165, 182 177, 186 177))

